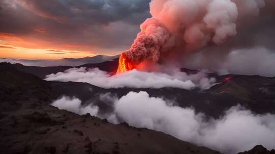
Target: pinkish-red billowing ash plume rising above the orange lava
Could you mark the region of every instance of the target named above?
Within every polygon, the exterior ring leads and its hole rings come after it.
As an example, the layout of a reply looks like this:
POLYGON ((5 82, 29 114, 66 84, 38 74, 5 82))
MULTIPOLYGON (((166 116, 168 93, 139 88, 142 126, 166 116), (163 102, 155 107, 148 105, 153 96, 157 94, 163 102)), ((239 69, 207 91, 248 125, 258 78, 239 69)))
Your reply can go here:
POLYGON ((257 15, 264 5, 263 0, 152 0, 152 18, 123 56, 135 64, 156 62, 175 48, 188 52, 209 42, 222 44, 237 34, 238 16, 257 15))

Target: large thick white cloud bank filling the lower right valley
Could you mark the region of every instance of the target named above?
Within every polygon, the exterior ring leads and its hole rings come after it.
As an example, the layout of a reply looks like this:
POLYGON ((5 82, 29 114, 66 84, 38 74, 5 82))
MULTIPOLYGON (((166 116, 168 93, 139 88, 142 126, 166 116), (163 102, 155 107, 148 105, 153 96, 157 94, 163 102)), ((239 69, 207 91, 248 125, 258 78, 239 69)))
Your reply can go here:
MULTIPOLYGON (((108 95, 102 97, 110 99, 108 95)), ((75 98, 67 100, 73 103, 75 98)), ((268 149, 275 147, 273 114, 253 114, 238 105, 227 110, 223 117, 206 121, 204 114, 196 114, 193 108, 173 106, 162 98, 149 97, 146 92, 129 92, 113 100, 114 112, 98 117, 107 118, 113 123, 127 122, 131 126, 161 131, 224 153, 235 154, 257 144, 268 149)))

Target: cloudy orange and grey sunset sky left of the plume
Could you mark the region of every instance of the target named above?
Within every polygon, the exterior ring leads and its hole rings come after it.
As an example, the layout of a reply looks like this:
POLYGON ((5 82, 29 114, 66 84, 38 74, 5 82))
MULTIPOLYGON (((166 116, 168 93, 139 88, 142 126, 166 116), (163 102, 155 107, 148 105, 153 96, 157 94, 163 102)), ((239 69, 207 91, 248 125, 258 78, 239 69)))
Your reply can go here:
POLYGON ((0 58, 116 55, 150 16, 149 0, 1 0, 0 58))

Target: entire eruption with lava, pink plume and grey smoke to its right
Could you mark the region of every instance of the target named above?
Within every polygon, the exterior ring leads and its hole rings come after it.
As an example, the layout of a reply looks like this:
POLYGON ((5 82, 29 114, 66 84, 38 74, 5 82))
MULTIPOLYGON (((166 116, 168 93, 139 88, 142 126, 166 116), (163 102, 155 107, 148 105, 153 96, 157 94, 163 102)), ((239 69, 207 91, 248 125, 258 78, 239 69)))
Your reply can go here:
POLYGON ((122 53, 119 63, 124 66, 118 72, 149 61, 220 74, 274 76, 274 7, 268 0, 153 0, 152 17, 122 53))

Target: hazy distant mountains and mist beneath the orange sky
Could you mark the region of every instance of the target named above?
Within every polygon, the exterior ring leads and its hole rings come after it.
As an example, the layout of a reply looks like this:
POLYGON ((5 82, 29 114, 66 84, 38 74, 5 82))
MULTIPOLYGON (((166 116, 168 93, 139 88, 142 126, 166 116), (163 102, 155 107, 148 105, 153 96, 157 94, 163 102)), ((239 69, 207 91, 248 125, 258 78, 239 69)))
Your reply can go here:
POLYGON ((59 60, 26 60, 26 59, 8 59, 2 58, 0 62, 10 62, 12 64, 20 63, 25 66, 79 66, 84 64, 95 64, 101 63, 105 61, 112 61, 118 58, 119 55, 116 56, 104 56, 98 55, 94 57, 84 57, 84 58, 63 58, 59 60))

